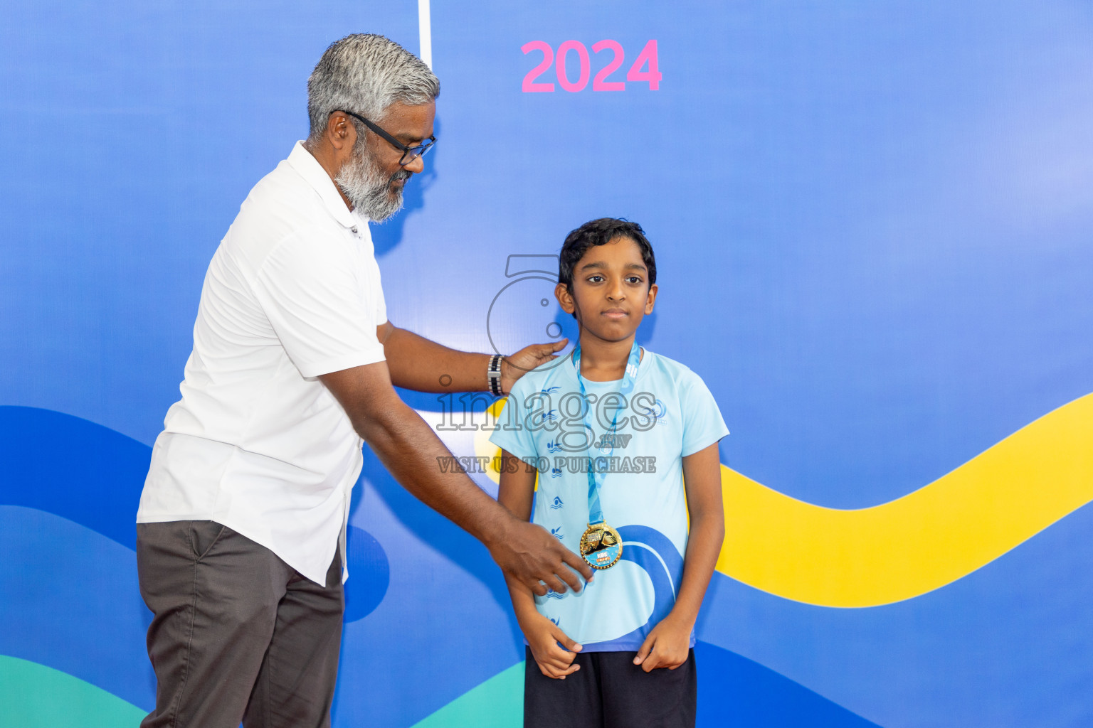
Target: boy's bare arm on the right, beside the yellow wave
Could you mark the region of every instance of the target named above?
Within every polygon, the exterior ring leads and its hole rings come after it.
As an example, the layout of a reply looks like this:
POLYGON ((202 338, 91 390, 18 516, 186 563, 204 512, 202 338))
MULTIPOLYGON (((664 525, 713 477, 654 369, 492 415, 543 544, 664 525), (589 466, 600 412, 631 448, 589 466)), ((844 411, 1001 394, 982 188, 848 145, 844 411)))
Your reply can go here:
POLYGON ((667 667, 675 669, 686 661, 691 631, 698 608, 714 574, 725 540, 725 511, 721 506, 721 462, 717 443, 683 458, 686 481, 686 508, 691 516, 683 581, 675 606, 668 617, 653 628, 634 657, 646 672, 667 667))

